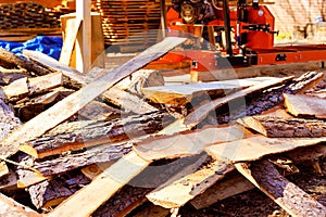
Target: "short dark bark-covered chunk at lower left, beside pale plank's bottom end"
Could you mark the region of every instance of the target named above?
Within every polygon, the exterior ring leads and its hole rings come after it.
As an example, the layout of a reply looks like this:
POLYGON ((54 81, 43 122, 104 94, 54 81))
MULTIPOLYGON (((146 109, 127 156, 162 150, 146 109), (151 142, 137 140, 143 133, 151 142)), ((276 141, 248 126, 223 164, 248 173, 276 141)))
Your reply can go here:
POLYGON ((57 206, 88 183, 89 180, 83 174, 78 174, 68 178, 58 177, 42 181, 29 187, 28 192, 35 207, 47 208, 57 206))

